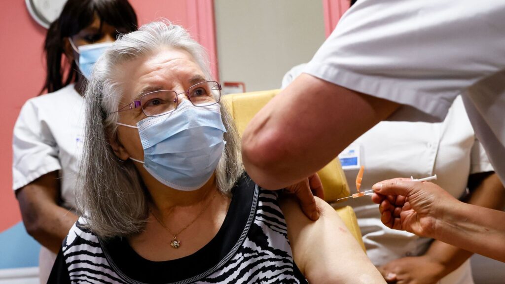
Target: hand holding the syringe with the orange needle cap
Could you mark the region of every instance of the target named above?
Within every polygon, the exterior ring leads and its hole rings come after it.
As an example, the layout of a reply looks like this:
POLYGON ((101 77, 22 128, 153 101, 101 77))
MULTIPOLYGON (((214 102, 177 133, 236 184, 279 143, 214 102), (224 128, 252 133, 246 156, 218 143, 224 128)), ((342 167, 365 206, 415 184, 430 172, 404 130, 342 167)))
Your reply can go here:
POLYGON ((384 225, 429 238, 436 238, 444 208, 458 202, 434 183, 407 178, 384 180, 372 188, 384 225))

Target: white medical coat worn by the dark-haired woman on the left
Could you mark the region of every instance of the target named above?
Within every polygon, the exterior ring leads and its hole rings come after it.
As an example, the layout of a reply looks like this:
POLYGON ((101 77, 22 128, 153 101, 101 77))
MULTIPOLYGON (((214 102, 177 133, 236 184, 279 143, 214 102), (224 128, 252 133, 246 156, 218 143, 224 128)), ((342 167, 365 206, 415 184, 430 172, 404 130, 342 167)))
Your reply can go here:
MULTIPOLYGON (((77 214, 76 178, 82 156, 84 99, 68 85, 28 100, 19 114, 13 135, 13 189, 40 176, 59 171, 61 206, 77 214)), ((47 279, 56 255, 42 247, 40 279, 47 279)))

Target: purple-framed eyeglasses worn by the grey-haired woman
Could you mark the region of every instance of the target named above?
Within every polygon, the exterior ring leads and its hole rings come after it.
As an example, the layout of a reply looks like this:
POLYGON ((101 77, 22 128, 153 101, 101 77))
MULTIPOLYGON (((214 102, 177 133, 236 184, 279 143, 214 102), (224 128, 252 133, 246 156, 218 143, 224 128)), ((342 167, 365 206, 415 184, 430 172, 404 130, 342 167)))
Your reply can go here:
POLYGON ((216 81, 197 83, 187 91, 177 93, 172 90, 159 90, 144 94, 138 101, 133 101, 122 107, 117 112, 142 108, 146 116, 160 116, 169 114, 177 108, 177 96, 185 93, 191 104, 195 107, 207 107, 219 103, 221 100, 221 85, 216 81))

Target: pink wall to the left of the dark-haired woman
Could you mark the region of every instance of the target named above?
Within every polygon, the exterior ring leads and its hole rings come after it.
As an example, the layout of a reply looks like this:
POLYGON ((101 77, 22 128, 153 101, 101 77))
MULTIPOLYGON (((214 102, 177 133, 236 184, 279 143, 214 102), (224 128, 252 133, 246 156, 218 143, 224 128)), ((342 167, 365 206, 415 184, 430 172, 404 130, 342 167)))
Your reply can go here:
POLYGON ((44 81, 42 44, 45 30, 31 20, 22 1, 0 1, 0 231, 21 220, 12 191, 12 129, 23 103, 44 81))

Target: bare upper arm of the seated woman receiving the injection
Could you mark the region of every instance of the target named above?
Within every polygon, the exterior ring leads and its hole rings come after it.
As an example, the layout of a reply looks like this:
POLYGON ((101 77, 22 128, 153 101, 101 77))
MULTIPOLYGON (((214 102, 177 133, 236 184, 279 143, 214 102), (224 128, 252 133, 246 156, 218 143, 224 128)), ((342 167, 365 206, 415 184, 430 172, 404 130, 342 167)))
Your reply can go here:
POLYGON ((316 200, 321 216, 311 221, 294 199, 280 199, 294 261, 309 282, 384 282, 335 210, 321 199, 316 200))

